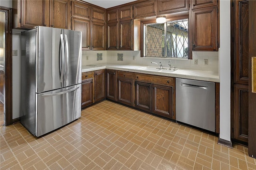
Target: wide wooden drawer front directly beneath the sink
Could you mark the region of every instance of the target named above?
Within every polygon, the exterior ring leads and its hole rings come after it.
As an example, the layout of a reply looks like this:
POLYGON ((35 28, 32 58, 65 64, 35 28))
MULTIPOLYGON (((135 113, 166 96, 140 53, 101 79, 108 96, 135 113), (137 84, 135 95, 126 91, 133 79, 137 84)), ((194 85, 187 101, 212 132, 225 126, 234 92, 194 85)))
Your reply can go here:
POLYGON ((144 75, 140 73, 135 74, 135 80, 138 81, 146 81, 150 83, 156 83, 161 85, 174 85, 173 77, 164 77, 164 76, 156 76, 156 75, 144 75))

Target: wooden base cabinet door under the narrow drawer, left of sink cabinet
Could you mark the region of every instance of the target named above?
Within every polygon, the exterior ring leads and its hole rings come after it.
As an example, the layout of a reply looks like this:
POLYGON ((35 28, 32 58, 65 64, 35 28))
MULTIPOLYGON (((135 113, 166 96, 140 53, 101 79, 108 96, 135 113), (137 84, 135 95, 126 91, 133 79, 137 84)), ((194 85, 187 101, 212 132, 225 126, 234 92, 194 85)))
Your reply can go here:
POLYGON ((117 101, 129 106, 134 106, 134 81, 133 79, 125 79, 118 77, 118 97, 117 101))

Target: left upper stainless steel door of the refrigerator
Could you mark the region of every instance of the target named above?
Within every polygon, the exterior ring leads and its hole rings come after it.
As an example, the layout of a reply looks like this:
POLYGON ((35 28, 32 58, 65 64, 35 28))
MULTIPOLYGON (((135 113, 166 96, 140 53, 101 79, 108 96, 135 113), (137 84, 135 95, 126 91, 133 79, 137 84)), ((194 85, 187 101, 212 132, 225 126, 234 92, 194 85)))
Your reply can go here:
POLYGON ((64 30, 38 26, 36 93, 60 89, 64 76, 64 30), (63 67, 62 67, 63 66, 63 67))

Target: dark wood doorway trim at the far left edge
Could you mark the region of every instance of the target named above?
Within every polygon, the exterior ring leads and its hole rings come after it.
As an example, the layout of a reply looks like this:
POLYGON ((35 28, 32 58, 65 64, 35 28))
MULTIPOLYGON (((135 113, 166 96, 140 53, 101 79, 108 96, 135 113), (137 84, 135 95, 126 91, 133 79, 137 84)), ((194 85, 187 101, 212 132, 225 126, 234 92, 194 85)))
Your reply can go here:
POLYGON ((6 12, 5 40, 5 126, 12 124, 12 8, 0 6, 6 12))

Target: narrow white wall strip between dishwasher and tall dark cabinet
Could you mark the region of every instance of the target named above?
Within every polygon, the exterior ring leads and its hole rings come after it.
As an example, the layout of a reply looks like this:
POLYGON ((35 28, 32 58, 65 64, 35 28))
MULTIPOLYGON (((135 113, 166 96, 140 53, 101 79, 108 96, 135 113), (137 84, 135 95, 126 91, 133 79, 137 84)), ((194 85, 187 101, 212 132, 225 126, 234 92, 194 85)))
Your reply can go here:
POLYGON ((230 0, 220 0, 220 138, 230 141, 230 0))

